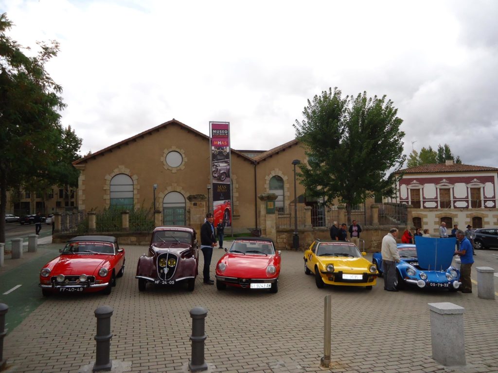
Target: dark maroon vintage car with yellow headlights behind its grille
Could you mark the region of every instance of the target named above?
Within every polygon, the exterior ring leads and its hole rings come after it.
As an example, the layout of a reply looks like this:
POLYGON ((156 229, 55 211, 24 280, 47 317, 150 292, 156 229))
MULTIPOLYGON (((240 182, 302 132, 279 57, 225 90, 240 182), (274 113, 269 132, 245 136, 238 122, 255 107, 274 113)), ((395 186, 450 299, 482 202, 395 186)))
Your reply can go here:
POLYGON ((188 290, 193 291, 198 265, 199 249, 194 228, 179 225, 157 227, 152 233, 148 254, 138 259, 138 290, 145 291, 147 282, 174 285, 185 281, 188 290))

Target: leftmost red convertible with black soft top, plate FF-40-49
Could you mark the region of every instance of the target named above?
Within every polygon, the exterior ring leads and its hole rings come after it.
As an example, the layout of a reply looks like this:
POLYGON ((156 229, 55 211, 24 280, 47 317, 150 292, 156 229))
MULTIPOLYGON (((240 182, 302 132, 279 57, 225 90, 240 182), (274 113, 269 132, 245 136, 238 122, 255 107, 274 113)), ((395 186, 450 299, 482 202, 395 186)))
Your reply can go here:
POLYGON ((120 249, 116 237, 78 236, 42 268, 40 287, 44 296, 100 290, 110 294, 116 278, 123 273, 124 249, 120 249))

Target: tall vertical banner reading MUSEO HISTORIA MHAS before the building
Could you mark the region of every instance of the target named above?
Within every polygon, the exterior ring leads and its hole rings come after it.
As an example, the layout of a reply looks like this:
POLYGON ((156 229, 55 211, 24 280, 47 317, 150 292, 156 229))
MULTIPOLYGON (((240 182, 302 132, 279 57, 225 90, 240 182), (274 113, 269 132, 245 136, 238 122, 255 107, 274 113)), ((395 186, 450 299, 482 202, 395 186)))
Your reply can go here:
POLYGON ((230 172, 230 122, 209 122, 211 136, 211 183, 214 226, 232 226, 232 187, 230 172))

